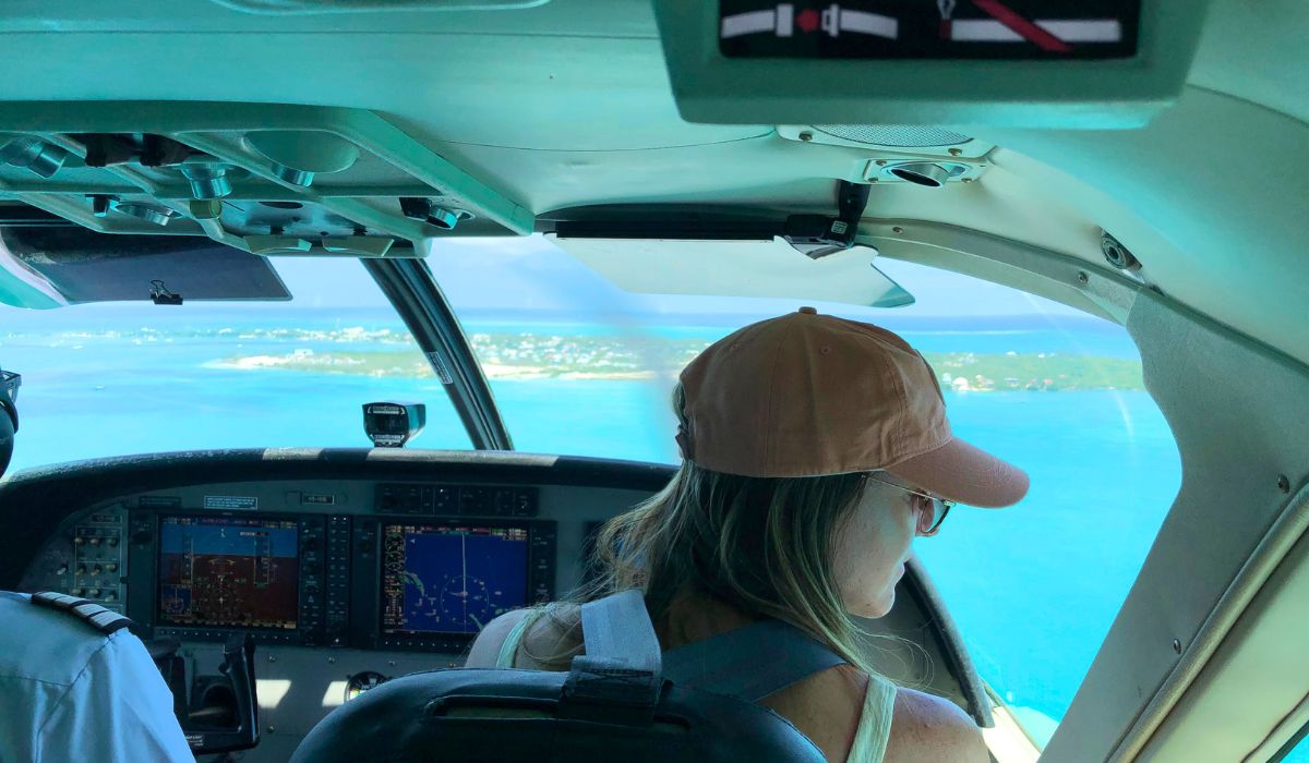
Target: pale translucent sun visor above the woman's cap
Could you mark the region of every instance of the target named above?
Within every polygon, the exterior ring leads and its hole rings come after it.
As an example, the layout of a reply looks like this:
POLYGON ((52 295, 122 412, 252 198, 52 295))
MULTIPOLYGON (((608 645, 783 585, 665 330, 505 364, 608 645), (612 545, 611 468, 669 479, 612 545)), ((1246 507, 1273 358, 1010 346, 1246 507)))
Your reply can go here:
POLYGON ((914 304, 912 294, 873 266, 877 250, 868 246, 810 259, 780 238, 546 237, 618 288, 640 294, 784 297, 868 308, 914 304))

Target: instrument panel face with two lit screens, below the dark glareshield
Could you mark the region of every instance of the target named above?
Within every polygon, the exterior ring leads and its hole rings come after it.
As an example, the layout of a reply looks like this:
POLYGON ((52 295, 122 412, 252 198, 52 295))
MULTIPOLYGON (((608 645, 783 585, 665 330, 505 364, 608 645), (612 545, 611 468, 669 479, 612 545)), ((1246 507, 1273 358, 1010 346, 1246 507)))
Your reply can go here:
MULTIPOLYGON (((242 759, 285 760, 350 698, 457 666, 492 618, 575 588, 586 533, 668 479, 338 471, 103 496, 68 510, 7 586, 86 598, 143 640, 179 641, 190 686, 220 673, 229 636, 250 633, 262 738, 242 759)), ((16 506, 0 508, 13 522, 16 506)))

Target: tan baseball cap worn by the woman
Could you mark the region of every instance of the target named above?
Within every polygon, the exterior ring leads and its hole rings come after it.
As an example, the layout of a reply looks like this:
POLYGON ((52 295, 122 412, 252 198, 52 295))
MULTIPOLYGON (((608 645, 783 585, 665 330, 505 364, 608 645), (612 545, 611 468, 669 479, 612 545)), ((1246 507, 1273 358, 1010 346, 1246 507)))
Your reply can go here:
POLYGON ((907 342, 813 308, 711 344, 682 372, 687 461, 744 476, 886 470, 932 495, 1008 506, 1022 470, 950 433, 936 373, 907 342))

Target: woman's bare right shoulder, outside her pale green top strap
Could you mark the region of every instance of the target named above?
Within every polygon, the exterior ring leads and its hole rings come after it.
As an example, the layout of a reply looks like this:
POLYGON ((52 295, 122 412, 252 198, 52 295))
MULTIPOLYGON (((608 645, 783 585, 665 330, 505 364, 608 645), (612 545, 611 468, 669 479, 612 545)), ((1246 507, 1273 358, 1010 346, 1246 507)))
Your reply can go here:
POLYGON ((982 732, 957 704, 912 688, 895 691, 886 763, 949 760, 988 763, 982 732))

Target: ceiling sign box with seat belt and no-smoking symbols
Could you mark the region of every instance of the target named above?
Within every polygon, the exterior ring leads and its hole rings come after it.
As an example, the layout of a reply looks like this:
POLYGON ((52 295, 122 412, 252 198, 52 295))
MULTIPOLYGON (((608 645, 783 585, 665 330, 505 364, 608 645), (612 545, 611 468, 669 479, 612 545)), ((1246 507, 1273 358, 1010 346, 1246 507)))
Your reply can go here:
POLYGON ((1140 127, 1208 0, 654 0, 678 110, 711 124, 1140 127))

